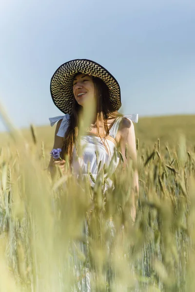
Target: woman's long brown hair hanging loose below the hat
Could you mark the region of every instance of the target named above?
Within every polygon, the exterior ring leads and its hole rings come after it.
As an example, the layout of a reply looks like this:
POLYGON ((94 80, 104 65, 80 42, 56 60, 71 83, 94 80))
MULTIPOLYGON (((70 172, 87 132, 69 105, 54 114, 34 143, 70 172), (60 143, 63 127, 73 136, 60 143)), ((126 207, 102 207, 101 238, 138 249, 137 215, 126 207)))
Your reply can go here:
MULTIPOLYGON (((80 73, 77 73, 78 75, 80 73)), ((76 76, 75 75, 75 76, 76 76)), ((107 125, 108 119, 117 118, 122 116, 117 110, 115 110, 110 102, 109 89, 107 85, 98 77, 93 77, 95 86, 95 94, 97 97, 97 116, 96 116, 96 127, 97 134, 100 136, 100 127, 103 125, 104 138, 109 135, 109 129, 107 125)), ((73 159, 73 147, 78 137, 78 122, 79 115, 82 111, 82 107, 76 101, 73 95, 73 111, 70 115, 69 127, 64 135, 64 144, 62 148, 61 156, 64 158, 66 155, 69 157, 69 163, 71 164, 73 159)), ((100 137, 101 138, 101 137, 100 137)))

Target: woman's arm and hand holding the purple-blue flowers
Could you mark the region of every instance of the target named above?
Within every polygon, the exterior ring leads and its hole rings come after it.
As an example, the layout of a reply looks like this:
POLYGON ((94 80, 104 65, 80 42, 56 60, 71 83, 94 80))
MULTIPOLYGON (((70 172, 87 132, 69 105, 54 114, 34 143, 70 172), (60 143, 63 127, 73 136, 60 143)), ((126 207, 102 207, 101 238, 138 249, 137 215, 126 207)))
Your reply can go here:
MULTIPOLYGON (((63 138, 62 137, 59 137, 57 136, 57 133, 59 131, 59 127, 61 125, 61 121, 62 120, 59 120, 58 123, 57 123, 57 126, 56 126, 56 130, 55 130, 55 137, 54 137, 54 146, 53 148, 61 148, 63 147, 63 138)), ((55 176, 55 170, 56 170, 56 165, 57 164, 64 164, 65 161, 58 161, 57 159, 54 159, 52 156, 50 158, 50 162, 49 162, 49 165, 48 165, 48 169, 51 173, 51 177, 53 178, 55 176)))

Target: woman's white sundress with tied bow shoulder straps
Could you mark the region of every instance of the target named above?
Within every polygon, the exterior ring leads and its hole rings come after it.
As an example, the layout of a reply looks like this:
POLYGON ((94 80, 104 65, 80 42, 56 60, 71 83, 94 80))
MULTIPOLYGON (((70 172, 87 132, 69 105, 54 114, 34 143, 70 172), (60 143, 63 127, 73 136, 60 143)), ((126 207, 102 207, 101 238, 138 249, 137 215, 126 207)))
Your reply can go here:
MULTIPOLYGON (((131 122, 137 123, 138 121, 138 114, 124 115, 123 117, 127 118, 131 122)), ((82 157, 77 156, 75 148, 73 150, 73 162, 71 166, 73 167, 73 173, 75 175, 79 175, 80 173, 82 173, 82 176, 86 176, 90 172, 92 177, 96 181, 98 176, 98 168, 102 169, 104 164, 105 167, 108 167, 110 165, 117 147, 115 138, 121 119, 122 117, 118 117, 116 119, 115 123, 109 130, 109 135, 105 139, 106 141, 104 141, 109 151, 105 148, 99 136, 90 133, 82 136, 80 141, 80 145, 84 147, 82 157)), ((51 126, 54 126, 56 122, 62 120, 57 135, 59 137, 64 137, 64 134, 69 126, 70 115, 66 114, 64 116, 57 116, 49 118, 49 120, 51 126)), ((115 160, 112 160, 112 173, 114 173, 114 171, 116 170, 118 162, 118 156, 115 160)), ((94 186, 93 178, 89 177, 92 186, 94 186)), ((110 180, 107 180, 107 183, 108 184, 105 185, 105 189, 111 187, 112 185, 112 182, 110 180)))

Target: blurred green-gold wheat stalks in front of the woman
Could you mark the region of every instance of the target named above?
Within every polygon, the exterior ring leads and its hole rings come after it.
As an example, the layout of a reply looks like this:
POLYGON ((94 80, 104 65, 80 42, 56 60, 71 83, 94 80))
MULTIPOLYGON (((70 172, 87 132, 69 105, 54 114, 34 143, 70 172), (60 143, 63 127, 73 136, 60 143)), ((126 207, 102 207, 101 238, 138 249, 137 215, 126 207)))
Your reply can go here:
POLYGON ((33 135, 27 144, 15 132, 0 150, 0 291, 194 292, 195 153, 184 138, 163 154, 159 140, 150 152, 137 141, 133 223, 131 165, 121 161, 104 194, 109 169, 93 190, 70 173, 52 182, 33 135))

